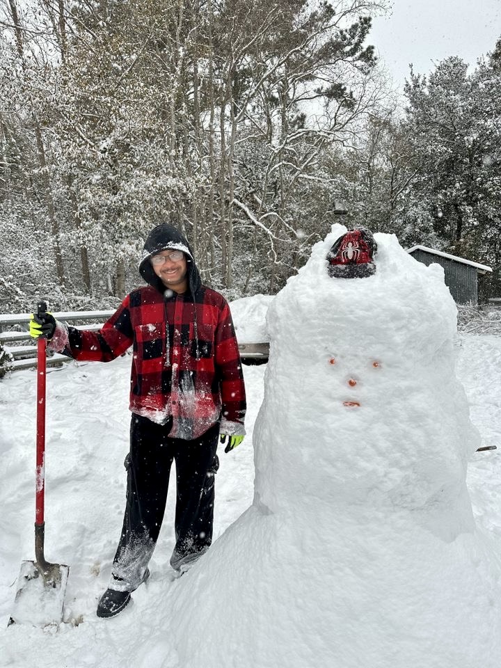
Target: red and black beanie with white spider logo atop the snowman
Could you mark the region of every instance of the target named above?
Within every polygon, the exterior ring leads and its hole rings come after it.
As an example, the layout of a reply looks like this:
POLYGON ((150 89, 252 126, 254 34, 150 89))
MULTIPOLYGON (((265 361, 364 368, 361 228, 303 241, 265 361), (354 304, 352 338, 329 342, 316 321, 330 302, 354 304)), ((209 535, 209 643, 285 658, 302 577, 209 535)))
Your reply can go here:
POLYGON ((367 228, 348 230, 337 239, 327 254, 328 275, 333 278, 367 278, 376 271, 377 251, 372 232, 367 228))

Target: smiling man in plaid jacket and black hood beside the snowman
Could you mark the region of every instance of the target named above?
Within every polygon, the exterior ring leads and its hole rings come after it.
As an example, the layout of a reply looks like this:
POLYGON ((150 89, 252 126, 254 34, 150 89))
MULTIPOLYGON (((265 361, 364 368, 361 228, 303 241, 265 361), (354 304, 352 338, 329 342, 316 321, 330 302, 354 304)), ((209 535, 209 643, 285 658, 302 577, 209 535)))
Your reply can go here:
POLYGON ((133 347, 127 504, 111 582, 97 606, 113 617, 148 578, 175 461, 175 548, 180 571, 212 542, 218 438, 225 452, 244 438, 244 379, 228 303, 202 285, 186 239, 158 225, 146 239, 141 276, 100 331, 34 315, 33 337, 76 360, 109 362, 133 347))

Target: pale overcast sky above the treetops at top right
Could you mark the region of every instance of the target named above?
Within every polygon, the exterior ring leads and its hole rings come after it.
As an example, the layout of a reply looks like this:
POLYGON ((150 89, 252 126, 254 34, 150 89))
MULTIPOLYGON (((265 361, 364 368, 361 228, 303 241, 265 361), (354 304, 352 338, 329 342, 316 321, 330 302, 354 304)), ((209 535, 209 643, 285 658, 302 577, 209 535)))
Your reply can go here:
POLYGON ((376 47, 398 86, 414 71, 427 74, 447 56, 474 65, 501 36, 501 0, 394 0, 392 15, 375 17, 367 42, 376 47))

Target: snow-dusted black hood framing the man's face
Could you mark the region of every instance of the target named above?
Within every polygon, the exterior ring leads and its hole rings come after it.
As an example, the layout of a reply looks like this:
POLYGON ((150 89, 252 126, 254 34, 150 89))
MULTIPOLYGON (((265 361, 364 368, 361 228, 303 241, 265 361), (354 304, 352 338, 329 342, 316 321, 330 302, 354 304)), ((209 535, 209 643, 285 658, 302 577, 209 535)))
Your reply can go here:
POLYGON ((157 225, 157 227, 148 234, 148 238, 143 246, 143 259, 141 260, 141 264, 139 264, 139 273, 141 273, 141 276, 143 276, 146 283, 156 287, 159 292, 165 292, 166 287, 157 274, 154 273, 150 257, 154 255, 154 253, 159 253, 161 250, 166 250, 167 248, 182 250, 184 255, 186 255, 188 285, 191 294, 195 296, 202 285, 200 273, 198 273, 195 259, 193 257, 193 251, 191 250, 188 241, 186 241, 181 232, 173 227, 173 225, 161 223, 161 225, 157 225))

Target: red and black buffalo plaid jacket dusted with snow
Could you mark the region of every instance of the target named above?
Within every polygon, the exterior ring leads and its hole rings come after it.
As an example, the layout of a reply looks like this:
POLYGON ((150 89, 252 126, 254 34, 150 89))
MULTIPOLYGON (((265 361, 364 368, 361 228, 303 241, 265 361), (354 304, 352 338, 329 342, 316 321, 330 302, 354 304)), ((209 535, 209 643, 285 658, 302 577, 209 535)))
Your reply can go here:
POLYGON ((130 409, 159 423, 172 417, 173 438, 198 438, 218 421, 221 433, 245 434, 237 339, 218 292, 201 287, 195 298, 166 298, 141 287, 99 331, 66 329, 58 324, 51 347, 77 360, 109 362, 133 346, 130 409))

